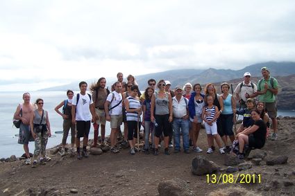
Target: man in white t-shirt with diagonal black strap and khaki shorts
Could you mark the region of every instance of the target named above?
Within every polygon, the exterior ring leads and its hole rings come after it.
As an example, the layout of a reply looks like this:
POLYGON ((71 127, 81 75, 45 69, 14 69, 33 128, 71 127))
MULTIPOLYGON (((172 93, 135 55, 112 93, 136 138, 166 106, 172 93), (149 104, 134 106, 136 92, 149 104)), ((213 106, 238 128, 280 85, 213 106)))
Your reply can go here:
POLYGON ((108 95, 105 103, 106 121, 110 121, 110 151, 117 153, 119 150, 115 148, 117 144, 118 127, 122 124, 122 89, 121 82, 115 83, 115 91, 108 95))

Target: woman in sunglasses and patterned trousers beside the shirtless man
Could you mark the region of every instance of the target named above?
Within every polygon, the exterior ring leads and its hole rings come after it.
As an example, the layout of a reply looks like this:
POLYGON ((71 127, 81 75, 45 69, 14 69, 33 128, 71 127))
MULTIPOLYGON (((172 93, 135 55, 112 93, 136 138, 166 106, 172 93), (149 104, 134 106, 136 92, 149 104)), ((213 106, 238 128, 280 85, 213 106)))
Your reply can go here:
POLYGON ((48 137, 51 136, 50 123, 48 112, 43 109, 44 101, 38 98, 35 102, 37 109, 33 112, 30 119, 30 127, 33 138, 35 139, 35 151, 33 156, 33 166, 37 166, 37 159, 40 157, 40 164, 46 164, 46 161, 51 160, 46 156, 46 145, 48 137))

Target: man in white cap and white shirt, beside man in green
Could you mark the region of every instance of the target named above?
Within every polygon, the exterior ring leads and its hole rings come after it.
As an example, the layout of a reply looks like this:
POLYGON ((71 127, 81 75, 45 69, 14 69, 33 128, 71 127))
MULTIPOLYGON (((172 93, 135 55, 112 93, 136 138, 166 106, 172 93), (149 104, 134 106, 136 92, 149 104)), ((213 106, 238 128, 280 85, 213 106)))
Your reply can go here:
POLYGON ((246 108, 246 100, 248 98, 255 98, 257 96, 257 86, 251 82, 251 74, 249 72, 244 73, 244 81, 237 84, 235 87, 235 97, 239 100, 239 105, 242 109, 246 108))

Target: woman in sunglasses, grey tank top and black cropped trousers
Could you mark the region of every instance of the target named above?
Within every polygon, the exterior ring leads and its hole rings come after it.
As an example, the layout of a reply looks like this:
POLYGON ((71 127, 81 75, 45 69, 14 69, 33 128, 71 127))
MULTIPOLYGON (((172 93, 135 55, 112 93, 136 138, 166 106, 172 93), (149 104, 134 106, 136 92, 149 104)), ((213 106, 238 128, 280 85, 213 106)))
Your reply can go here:
POLYGON ((165 80, 158 82, 159 91, 155 91, 151 98, 151 121, 158 123, 155 127, 155 155, 158 155, 158 144, 162 132, 164 132, 165 154, 169 155, 169 135, 171 135, 172 122, 172 98, 165 91, 165 80))

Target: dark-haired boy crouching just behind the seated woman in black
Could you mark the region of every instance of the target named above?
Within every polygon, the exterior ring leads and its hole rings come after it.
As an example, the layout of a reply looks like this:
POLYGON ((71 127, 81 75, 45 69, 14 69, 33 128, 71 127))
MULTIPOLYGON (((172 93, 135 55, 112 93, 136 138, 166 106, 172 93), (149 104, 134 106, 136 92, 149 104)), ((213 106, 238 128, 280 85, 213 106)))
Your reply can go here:
POLYGON ((253 119, 251 118, 251 111, 254 109, 255 102, 253 99, 248 98, 246 100, 246 105, 247 107, 245 109, 236 112, 236 114, 243 115, 243 123, 239 127, 239 130, 237 130, 237 133, 242 132, 246 128, 252 126, 254 123, 253 119))

